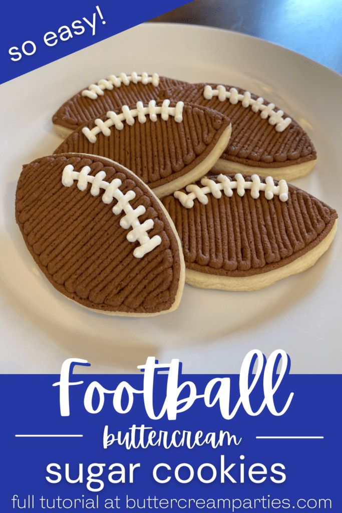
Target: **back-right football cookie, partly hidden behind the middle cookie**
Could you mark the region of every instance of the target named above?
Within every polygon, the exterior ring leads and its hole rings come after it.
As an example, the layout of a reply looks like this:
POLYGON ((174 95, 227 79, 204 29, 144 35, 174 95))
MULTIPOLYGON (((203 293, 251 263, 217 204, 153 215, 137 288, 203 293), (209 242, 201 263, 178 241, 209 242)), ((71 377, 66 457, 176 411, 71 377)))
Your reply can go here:
POLYGON ((185 84, 160 91, 160 98, 182 98, 230 117, 232 135, 215 168, 226 172, 270 174, 293 180, 310 173, 316 151, 308 134, 273 103, 238 87, 185 84))

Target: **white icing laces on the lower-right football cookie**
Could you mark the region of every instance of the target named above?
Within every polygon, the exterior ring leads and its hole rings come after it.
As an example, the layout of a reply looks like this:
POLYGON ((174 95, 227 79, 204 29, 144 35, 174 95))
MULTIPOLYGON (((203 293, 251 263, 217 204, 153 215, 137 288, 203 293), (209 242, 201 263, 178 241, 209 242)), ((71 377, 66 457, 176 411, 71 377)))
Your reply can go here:
POLYGON ((226 196, 230 198, 235 189, 239 196, 244 196, 245 190, 249 189, 254 200, 259 198, 260 191, 265 192, 265 198, 267 200, 272 200, 274 195, 279 196, 280 201, 287 201, 289 199, 289 187, 285 180, 279 180, 278 185, 275 185, 272 176, 267 176, 265 184, 260 181, 260 177, 257 174, 251 176, 251 182, 247 182, 240 173, 235 174, 234 178, 235 182, 230 180, 229 176, 219 174, 217 176, 217 183, 214 180, 204 177, 200 181, 204 187, 190 184, 186 187, 186 191, 189 194, 176 191, 173 195, 186 208, 192 208, 194 205, 193 200, 195 199, 197 199, 199 203, 207 205, 207 194, 212 194, 214 198, 219 199, 222 196, 221 191, 223 191, 226 196))

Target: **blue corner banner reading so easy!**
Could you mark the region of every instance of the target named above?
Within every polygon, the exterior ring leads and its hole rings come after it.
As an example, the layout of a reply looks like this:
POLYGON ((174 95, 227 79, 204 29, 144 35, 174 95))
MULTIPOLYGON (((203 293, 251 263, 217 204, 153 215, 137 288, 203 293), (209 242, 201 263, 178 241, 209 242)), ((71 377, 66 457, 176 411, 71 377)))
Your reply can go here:
POLYGON ((1 9, 0 83, 175 9, 184 0, 43 0, 1 9))

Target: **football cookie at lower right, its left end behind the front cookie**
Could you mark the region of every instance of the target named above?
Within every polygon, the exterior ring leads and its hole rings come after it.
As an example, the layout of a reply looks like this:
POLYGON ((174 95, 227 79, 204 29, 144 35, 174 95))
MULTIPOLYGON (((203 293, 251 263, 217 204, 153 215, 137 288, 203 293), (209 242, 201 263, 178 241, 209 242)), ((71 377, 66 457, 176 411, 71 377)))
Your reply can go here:
POLYGON ((163 200, 182 242, 186 283, 257 290, 311 267, 337 213, 285 180, 211 175, 163 200))

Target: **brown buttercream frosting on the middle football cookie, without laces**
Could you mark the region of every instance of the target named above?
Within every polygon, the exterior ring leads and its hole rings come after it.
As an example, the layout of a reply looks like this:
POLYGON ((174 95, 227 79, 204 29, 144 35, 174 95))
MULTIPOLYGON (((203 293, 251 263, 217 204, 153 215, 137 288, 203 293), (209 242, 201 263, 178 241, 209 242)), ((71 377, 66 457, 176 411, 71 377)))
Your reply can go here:
MULTIPOLYGON (((100 119, 105 121, 107 117, 100 119)), ((154 189, 184 176, 202 162, 229 127, 230 120, 212 109, 186 104, 180 123, 174 116, 170 115, 164 121, 158 114, 156 122, 147 115, 146 123, 135 119, 132 126, 123 124, 122 130, 111 127, 109 136, 100 132, 95 143, 88 141, 80 127, 54 153, 91 153, 108 157, 133 171, 154 189)), ((95 120, 84 126, 92 129, 95 120)))

